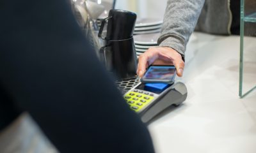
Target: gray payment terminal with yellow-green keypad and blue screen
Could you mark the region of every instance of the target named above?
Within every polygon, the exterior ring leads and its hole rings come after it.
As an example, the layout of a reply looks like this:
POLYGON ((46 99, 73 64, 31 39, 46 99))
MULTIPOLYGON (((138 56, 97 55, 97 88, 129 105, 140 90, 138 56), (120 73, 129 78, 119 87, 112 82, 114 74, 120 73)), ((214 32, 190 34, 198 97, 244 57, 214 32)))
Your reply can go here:
POLYGON ((182 82, 172 84, 138 83, 125 92, 124 99, 141 116, 143 122, 150 121, 169 106, 178 106, 187 97, 186 86, 182 82))

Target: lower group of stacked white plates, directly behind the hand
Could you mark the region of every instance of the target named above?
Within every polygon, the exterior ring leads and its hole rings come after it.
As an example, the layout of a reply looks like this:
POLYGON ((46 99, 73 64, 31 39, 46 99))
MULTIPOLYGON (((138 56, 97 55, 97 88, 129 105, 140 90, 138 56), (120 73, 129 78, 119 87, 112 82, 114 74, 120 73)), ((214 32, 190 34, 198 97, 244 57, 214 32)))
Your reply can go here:
POLYGON ((138 34, 133 36, 137 56, 143 54, 150 47, 157 47, 157 39, 160 33, 138 34))

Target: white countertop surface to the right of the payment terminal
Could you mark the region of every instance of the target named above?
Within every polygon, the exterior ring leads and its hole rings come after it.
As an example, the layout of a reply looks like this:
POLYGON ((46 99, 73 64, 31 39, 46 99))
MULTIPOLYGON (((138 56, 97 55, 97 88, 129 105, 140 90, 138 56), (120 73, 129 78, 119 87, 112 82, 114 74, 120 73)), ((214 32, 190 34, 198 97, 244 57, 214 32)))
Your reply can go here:
MULTIPOLYGON (((248 38, 244 87, 256 85, 256 38, 248 38)), ((256 90, 240 99, 239 36, 193 33, 181 79, 188 98, 148 126, 157 153, 255 153, 256 90)))

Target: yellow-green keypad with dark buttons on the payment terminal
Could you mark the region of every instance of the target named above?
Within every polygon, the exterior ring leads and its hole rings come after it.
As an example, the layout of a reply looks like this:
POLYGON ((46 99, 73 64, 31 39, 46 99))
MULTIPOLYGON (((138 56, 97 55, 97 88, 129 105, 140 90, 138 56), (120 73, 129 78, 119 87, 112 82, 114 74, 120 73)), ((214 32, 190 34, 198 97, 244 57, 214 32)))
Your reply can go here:
POLYGON ((127 100, 127 103, 131 106, 132 110, 139 112, 154 99, 153 96, 148 95, 148 92, 145 93, 147 94, 144 94, 143 91, 130 91, 125 94, 124 98, 127 100))

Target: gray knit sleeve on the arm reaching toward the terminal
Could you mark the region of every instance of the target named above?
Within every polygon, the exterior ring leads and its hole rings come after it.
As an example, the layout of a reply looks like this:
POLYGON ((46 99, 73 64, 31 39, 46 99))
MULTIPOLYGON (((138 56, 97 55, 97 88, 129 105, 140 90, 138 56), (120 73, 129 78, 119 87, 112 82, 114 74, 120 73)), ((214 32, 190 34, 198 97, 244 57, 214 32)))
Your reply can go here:
POLYGON ((172 47, 184 55, 203 5, 204 0, 168 0, 159 46, 172 47))

